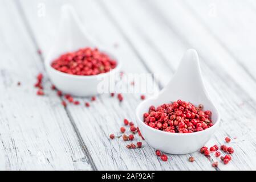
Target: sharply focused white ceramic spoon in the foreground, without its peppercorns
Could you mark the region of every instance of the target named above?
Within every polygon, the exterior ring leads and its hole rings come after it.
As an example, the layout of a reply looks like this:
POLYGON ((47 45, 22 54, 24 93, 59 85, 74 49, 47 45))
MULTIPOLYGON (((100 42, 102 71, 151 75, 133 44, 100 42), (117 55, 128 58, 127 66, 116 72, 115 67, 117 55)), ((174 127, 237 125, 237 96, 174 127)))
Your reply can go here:
POLYGON ((188 154, 199 150, 210 139, 220 124, 218 110, 206 92, 198 60, 197 52, 189 49, 185 52, 180 65, 168 85, 158 96, 141 102, 136 109, 137 125, 145 140, 154 148, 169 154, 188 154), (194 105, 203 104, 204 110, 212 111, 213 126, 196 133, 167 133, 156 130, 143 122, 143 114, 151 105, 159 106, 178 99, 194 105))

